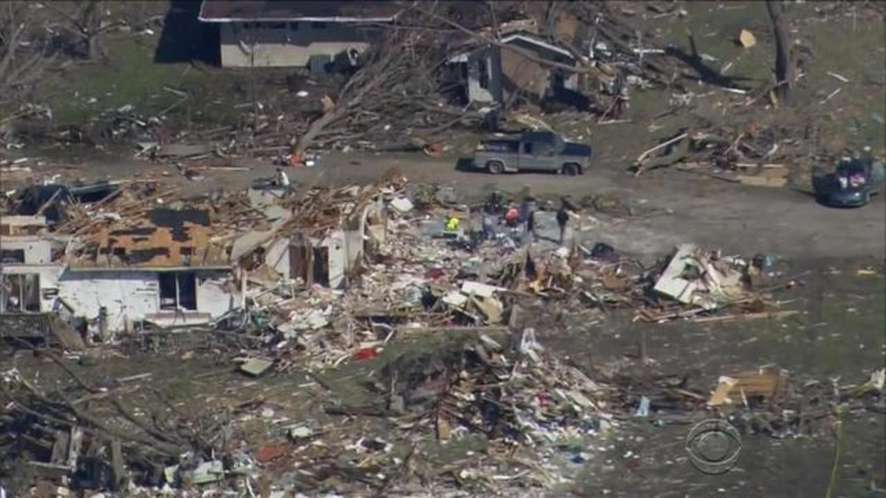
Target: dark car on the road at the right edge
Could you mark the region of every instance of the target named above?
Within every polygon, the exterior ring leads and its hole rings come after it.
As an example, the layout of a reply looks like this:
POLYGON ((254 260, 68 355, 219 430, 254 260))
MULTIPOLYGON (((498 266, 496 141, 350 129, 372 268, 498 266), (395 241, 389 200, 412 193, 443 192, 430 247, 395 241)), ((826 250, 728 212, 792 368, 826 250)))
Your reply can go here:
POLYGON ((834 173, 812 175, 812 189, 821 204, 832 207, 860 207, 880 193, 883 163, 872 159, 841 161, 834 173))

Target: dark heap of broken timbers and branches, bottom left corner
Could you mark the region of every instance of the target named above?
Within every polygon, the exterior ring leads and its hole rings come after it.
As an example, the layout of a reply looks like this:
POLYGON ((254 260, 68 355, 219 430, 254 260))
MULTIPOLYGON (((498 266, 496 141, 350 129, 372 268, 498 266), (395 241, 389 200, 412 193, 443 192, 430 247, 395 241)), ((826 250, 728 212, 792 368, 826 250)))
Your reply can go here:
MULTIPOLYGON (((128 385, 150 374, 93 385, 64 359, 47 350, 40 354, 67 371, 64 389, 49 390, 15 369, 0 372, 4 460, 30 467, 39 481, 120 492, 129 482, 161 483, 169 463, 189 461, 198 472, 201 460, 221 450, 217 437, 204 439, 205 427, 221 427, 213 416, 189 420, 158 409, 167 414, 159 419, 128 407, 123 398, 131 392, 128 385)), ((172 406, 156 394, 158 406, 172 406)))

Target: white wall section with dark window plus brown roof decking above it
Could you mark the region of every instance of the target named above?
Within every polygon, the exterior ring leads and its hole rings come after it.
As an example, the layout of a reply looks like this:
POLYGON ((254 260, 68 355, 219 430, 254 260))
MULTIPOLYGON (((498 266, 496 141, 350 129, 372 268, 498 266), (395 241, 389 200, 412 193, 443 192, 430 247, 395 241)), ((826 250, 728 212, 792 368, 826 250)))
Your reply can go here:
POLYGON ((58 279, 76 315, 132 323, 206 323, 236 306, 225 248, 212 240, 207 211, 152 209, 78 237, 58 279))

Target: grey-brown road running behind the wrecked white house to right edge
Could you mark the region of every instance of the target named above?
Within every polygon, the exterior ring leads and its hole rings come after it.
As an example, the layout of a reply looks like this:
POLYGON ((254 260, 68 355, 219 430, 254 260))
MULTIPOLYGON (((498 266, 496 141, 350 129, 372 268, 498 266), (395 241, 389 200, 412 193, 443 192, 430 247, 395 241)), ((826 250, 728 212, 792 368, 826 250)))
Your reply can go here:
MULTIPOLYGON (((274 174, 267 162, 248 173, 213 173, 190 191, 245 188, 253 178, 274 174)), ((540 198, 570 194, 582 198, 606 192, 640 211, 630 218, 601 215, 584 238, 632 253, 664 253, 680 242, 721 247, 727 253, 773 253, 792 259, 875 258, 886 252, 886 211, 882 196, 860 209, 831 209, 790 189, 746 187, 676 171, 634 178, 624 165, 595 164, 586 175, 487 175, 456 168, 453 160, 415 154, 330 154, 317 167, 288 168, 297 183, 371 182, 397 167, 413 182, 454 186, 466 198, 484 198, 492 189, 517 192, 525 186, 540 198)))

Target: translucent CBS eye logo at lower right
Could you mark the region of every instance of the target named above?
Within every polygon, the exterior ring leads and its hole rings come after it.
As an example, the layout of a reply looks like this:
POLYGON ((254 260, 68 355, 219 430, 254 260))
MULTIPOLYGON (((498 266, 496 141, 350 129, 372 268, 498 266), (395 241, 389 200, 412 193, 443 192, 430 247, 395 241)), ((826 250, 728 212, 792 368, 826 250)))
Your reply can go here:
POLYGON ((693 466, 705 474, 722 474, 738 463, 742 438, 725 420, 711 418, 694 425, 686 436, 686 453, 693 466))

